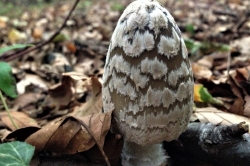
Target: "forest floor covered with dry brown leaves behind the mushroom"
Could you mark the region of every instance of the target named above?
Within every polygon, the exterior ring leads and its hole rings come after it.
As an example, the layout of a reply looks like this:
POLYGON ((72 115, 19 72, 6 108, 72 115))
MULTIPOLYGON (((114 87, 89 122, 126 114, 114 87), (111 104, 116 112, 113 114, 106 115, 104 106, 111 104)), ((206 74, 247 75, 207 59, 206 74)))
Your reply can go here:
MULTIPOLYGON (((250 1, 161 2, 175 18, 189 51, 196 83, 191 121, 250 124, 250 1)), ((0 11, 0 48, 17 43, 35 47, 48 41, 73 4, 58 1, 30 8, 1 4, 5 11, 0 11)), ((119 160, 122 142, 108 141, 113 135, 105 138, 111 115, 99 114, 100 92, 109 40, 128 4, 126 0, 80 1, 53 40, 29 53, 21 49, 0 55, 0 61, 11 65, 16 79, 18 96, 6 96, 6 100, 19 128, 16 130, 0 102, 2 142, 29 140, 44 156, 51 154, 48 151, 85 151, 92 164, 105 163, 101 154, 93 157, 98 151, 92 138, 95 134, 101 146, 104 141, 108 144, 105 153, 109 160, 119 160), (102 123, 97 123, 100 120, 102 123), (89 133, 81 127, 83 122, 93 123, 98 132, 89 133), (65 134, 68 130, 75 134, 65 134), (67 147, 69 140, 74 141, 67 147), (80 146, 79 141, 85 143, 80 146)))

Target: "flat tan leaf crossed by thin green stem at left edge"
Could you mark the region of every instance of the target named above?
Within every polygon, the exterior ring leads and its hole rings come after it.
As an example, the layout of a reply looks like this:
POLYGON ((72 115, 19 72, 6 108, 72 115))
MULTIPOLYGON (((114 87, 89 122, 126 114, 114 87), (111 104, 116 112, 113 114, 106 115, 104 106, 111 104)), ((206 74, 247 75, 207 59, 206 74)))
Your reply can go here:
MULTIPOLYGON (((10 115, 12 116, 14 122, 19 128, 28 127, 28 126, 35 126, 39 127, 36 121, 30 118, 27 114, 23 112, 11 111, 10 115)), ((12 124, 9 116, 6 112, 0 113, 0 119, 5 123, 11 130, 15 130, 15 126, 12 124)))

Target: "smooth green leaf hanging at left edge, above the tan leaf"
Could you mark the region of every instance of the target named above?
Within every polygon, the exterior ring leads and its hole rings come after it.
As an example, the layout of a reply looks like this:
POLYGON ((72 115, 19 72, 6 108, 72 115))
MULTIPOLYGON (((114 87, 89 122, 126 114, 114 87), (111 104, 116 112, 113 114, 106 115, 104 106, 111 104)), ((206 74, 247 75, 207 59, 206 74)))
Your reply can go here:
POLYGON ((0 62, 0 90, 9 97, 17 97, 16 80, 12 74, 11 66, 6 62, 0 62))

